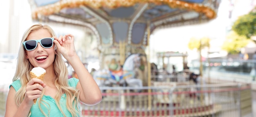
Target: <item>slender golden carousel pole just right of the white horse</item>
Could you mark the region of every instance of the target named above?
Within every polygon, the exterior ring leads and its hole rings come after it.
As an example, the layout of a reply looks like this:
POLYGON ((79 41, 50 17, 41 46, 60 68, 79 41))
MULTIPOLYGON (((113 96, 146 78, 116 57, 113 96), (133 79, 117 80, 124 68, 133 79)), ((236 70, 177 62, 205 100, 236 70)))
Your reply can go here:
MULTIPOLYGON (((148 58, 148 87, 150 87, 151 86, 151 66, 150 66, 150 43, 149 43, 149 39, 150 39, 150 21, 148 21, 147 22, 147 25, 148 25, 148 27, 147 27, 147 32, 148 32, 148 39, 147 39, 147 43, 148 43, 148 56, 147 56, 147 58, 148 58)), ((148 89, 148 110, 150 110, 151 109, 151 89, 148 89)))

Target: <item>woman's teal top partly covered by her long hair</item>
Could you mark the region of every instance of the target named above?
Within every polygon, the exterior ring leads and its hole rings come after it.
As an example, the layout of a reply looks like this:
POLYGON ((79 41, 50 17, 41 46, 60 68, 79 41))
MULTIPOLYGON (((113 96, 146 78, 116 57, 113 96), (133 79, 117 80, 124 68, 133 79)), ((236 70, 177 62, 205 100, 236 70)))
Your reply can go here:
MULTIPOLYGON (((76 78, 70 78, 68 79, 68 85, 70 87, 74 87, 76 88, 77 83, 79 82, 78 79, 76 78)), ((21 87, 21 83, 20 80, 16 80, 14 81, 10 87, 13 87, 16 92, 20 89, 21 87)), ((64 117, 63 114, 61 113, 61 111, 58 109, 58 106, 56 105, 56 102, 54 100, 54 98, 52 98, 49 95, 43 95, 42 97, 42 102, 41 102, 41 108, 43 110, 43 112, 48 116, 48 117, 64 117), (45 102, 44 102, 45 101, 45 102), (49 114, 48 114, 49 112, 49 114)), ((61 96, 61 100, 60 100, 60 104, 61 104, 61 109, 63 111, 63 113, 65 113, 66 117, 71 117, 70 112, 67 110, 66 107, 66 94, 64 93, 61 96)), ((36 101, 36 104, 34 104, 31 109, 31 115, 30 117, 45 117, 38 106, 38 100, 36 101)))

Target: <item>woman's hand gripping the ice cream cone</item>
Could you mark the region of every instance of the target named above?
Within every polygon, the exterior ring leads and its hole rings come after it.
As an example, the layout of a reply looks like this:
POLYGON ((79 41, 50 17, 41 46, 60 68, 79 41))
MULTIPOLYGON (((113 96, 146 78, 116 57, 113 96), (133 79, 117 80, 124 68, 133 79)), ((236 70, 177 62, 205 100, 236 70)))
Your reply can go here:
POLYGON ((45 83, 38 79, 38 78, 32 78, 28 83, 26 87, 26 92, 25 92, 25 98, 24 101, 25 103, 29 105, 34 104, 34 99, 37 99, 41 96, 43 92, 43 88, 45 87, 45 83))

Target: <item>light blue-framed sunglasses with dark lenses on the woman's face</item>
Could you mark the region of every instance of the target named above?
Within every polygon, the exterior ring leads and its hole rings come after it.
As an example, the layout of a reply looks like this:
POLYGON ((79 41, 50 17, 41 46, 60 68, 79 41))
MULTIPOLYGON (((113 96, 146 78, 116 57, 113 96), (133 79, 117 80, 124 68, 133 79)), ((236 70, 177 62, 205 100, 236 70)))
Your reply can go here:
POLYGON ((24 41, 23 45, 26 50, 31 51, 36 49, 37 43, 39 42, 43 48, 52 48, 54 38, 43 38, 39 40, 28 40, 24 41))

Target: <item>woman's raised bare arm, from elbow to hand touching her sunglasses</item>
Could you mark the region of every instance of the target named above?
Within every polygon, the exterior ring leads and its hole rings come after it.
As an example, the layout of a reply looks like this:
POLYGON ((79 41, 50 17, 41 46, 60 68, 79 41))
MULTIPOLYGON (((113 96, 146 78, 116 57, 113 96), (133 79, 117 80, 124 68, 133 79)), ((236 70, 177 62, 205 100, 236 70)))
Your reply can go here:
POLYGON ((95 105, 101 102, 102 95, 99 86, 76 54, 74 36, 68 34, 58 38, 54 37, 54 39, 57 49, 70 63, 78 76, 79 82, 76 88, 81 91, 79 95, 81 102, 88 105, 95 105))

